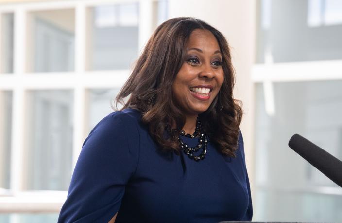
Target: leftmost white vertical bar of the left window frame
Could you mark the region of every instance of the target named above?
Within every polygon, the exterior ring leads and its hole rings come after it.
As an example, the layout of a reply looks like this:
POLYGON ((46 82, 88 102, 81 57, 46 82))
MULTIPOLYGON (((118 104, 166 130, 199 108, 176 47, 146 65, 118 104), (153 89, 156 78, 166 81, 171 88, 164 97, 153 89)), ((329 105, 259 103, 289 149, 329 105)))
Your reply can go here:
POLYGON ((17 84, 13 90, 12 152, 10 188, 14 195, 23 186, 23 154, 25 140, 25 94, 21 84, 25 67, 26 11, 17 7, 14 12, 14 77, 17 84))

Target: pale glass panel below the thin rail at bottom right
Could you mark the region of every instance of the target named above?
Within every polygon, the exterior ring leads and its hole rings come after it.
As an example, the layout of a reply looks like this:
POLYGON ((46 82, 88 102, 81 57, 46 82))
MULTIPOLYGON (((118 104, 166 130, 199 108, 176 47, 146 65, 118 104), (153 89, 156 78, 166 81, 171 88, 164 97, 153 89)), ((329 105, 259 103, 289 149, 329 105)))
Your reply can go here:
POLYGON ((341 223, 342 196, 259 188, 253 221, 341 223))

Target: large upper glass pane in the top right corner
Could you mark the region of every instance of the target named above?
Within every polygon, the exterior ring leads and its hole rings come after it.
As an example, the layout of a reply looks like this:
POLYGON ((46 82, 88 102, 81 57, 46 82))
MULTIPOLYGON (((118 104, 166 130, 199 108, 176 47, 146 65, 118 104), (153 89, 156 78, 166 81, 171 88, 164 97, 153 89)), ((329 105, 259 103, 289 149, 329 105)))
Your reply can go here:
POLYGON ((257 63, 342 59, 342 2, 258 0, 257 63))

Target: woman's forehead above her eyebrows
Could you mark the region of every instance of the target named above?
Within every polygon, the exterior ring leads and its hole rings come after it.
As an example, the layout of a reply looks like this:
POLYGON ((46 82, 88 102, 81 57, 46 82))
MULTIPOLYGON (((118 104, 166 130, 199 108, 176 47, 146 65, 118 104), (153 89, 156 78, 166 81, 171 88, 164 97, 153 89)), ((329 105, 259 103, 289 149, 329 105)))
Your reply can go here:
POLYGON ((187 42, 187 48, 208 48, 214 49, 214 51, 219 50, 219 43, 216 37, 209 31, 203 29, 195 29, 191 32, 190 37, 187 42))

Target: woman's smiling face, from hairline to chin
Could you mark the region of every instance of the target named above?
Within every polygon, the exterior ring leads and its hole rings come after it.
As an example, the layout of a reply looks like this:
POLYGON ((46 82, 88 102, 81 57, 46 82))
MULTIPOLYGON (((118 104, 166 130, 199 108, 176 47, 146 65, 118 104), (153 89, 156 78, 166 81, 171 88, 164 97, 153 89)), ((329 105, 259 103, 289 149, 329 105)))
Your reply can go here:
POLYGON ((186 115, 206 111, 223 83, 222 55, 214 35, 195 29, 188 40, 186 59, 172 85, 172 92, 186 115))

